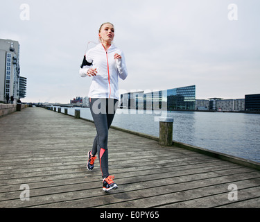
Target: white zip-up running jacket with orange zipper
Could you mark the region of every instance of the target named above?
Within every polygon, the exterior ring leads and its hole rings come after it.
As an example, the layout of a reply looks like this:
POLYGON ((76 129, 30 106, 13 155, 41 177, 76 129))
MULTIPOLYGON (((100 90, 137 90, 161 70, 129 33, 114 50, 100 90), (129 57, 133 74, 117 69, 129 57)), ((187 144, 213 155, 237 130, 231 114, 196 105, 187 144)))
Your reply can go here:
POLYGON ((114 44, 107 51, 103 44, 97 44, 87 51, 80 66, 80 76, 87 76, 89 68, 97 71, 89 88, 89 98, 119 99, 119 77, 124 80, 128 76, 123 52, 114 44), (121 59, 114 59, 115 53, 121 59))

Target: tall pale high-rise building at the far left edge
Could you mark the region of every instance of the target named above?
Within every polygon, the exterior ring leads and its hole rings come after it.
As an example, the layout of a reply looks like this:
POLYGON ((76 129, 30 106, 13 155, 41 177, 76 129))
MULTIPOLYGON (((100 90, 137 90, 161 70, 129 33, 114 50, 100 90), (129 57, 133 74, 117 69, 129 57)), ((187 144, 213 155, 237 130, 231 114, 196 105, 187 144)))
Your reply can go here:
POLYGON ((19 42, 0 39, 0 101, 19 99, 19 42))

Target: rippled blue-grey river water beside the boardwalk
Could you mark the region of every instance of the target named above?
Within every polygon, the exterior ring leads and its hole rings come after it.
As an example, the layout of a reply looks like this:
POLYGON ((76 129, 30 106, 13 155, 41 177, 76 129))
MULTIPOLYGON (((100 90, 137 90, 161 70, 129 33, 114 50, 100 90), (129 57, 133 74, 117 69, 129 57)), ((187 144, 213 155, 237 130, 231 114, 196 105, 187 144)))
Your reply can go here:
MULTIPOLYGON (((81 118, 93 120, 89 108, 79 109, 81 118)), ((74 112, 68 108, 68 114, 74 112)), ((173 140, 177 142, 260 162, 259 114, 118 109, 112 125, 159 137, 161 116, 173 117, 173 140)))

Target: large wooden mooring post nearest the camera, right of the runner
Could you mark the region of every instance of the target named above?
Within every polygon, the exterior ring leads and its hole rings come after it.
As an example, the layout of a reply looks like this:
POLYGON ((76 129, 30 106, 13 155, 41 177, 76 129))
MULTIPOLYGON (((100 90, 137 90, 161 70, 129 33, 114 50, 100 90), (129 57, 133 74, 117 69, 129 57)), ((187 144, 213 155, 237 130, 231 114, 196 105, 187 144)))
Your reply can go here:
POLYGON ((162 146, 173 144, 173 118, 159 118, 159 144, 162 146))

